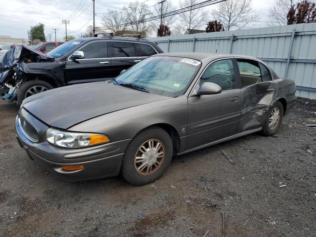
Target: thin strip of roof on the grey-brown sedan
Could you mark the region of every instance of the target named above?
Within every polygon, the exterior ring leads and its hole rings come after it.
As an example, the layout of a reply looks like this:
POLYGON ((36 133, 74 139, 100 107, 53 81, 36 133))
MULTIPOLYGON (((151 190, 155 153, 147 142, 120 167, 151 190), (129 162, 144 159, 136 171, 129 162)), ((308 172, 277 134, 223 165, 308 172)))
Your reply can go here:
POLYGON ((202 53, 202 52, 159 53, 153 56, 173 56, 173 57, 182 57, 182 58, 192 58, 196 60, 242 57, 242 58, 258 60, 254 57, 246 56, 246 55, 224 54, 224 53, 202 53))

